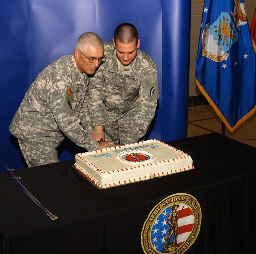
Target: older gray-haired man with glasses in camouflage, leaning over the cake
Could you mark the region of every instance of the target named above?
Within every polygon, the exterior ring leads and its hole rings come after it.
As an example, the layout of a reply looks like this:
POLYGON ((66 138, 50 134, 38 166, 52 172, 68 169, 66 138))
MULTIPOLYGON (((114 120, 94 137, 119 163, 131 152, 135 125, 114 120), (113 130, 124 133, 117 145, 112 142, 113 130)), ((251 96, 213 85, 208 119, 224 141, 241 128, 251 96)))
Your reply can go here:
POLYGON ((10 125, 28 167, 58 162, 56 149, 65 136, 87 150, 114 146, 92 139, 90 117, 82 107, 88 75, 95 73, 103 55, 102 39, 84 33, 73 55, 48 65, 32 83, 10 125))

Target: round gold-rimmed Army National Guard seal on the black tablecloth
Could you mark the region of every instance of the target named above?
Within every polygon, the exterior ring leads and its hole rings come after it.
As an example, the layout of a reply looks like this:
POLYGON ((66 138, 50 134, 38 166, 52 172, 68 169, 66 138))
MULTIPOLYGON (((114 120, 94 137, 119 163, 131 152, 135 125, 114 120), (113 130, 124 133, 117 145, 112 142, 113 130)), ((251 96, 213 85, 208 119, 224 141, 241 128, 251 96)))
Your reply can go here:
POLYGON ((186 252, 200 231, 201 208, 186 193, 171 195, 158 203, 148 215, 141 232, 146 254, 186 252))

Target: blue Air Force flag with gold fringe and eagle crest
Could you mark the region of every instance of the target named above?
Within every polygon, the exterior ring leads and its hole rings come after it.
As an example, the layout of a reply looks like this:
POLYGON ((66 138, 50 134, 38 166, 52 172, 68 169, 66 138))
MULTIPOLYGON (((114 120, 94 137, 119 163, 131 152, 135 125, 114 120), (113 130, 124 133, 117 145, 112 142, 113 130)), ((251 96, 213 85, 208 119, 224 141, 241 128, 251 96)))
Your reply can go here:
POLYGON ((256 111, 255 52, 242 0, 205 0, 196 84, 233 132, 256 111))

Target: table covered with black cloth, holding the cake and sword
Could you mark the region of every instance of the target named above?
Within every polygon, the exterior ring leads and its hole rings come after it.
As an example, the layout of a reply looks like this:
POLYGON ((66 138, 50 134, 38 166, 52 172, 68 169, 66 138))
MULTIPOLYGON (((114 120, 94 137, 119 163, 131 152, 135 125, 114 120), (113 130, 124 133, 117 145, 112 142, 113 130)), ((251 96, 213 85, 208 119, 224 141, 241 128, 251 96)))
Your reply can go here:
POLYGON ((56 221, 0 173, 0 253, 144 253, 148 214, 175 193, 193 195, 202 210, 200 233, 186 254, 253 253, 256 148, 219 134, 168 144, 190 154, 196 169, 103 190, 74 170, 74 160, 15 171, 56 221))

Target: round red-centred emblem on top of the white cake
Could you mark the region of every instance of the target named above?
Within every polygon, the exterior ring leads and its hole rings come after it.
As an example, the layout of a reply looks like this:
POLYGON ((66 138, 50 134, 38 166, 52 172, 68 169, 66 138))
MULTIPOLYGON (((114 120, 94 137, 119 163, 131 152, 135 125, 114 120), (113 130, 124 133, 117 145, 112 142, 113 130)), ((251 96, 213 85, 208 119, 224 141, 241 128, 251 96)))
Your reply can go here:
POLYGON ((129 164, 144 164, 153 161, 155 158, 153 154, 150 154, 149 152, 136 150, 130 152, 121 152, 118 154, 117 159, 129 164))

